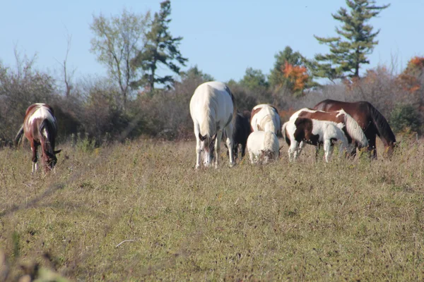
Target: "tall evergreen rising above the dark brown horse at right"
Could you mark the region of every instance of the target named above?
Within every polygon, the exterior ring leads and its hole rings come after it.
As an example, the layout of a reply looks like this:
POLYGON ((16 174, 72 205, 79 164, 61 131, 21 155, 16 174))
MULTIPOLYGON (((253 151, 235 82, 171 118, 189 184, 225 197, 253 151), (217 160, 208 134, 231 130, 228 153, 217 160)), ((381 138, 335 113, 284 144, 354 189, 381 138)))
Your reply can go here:
POLYGON ((372 26, 367 21, 377 16, 384 6, 375 6, 373 0, 346 0, 350 13, 346 8, 340 8, 336 14, 331 14, 335 20, 343 23, 336 27, 339 37, 314 37, 320 44, 330 47, 330 54, 317 54, 313 73, 321 78, 334 81, 338 78, 359 78, 360 65, 370 63, 367 55, 372 53, 378 44, 375 37, 379 34, 372 32, 372 26))

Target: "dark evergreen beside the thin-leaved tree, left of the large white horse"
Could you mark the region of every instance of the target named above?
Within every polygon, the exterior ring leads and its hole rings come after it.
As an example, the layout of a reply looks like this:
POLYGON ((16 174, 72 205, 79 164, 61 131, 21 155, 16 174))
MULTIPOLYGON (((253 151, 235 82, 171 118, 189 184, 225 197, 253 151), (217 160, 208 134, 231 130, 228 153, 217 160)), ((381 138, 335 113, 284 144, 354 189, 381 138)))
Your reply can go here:
POLYGON ((159 76, 156 73, 159 63, 167 66, 174 73, 179 73, 177 63, 185 66, 187 59, 178 49, 182 37, 170 35, 168 27, 171 21, 170 14, 171 2, 169 0, 161 2, 160 11, 155 13, 150 25, 151 29, 146 34, 146 44, 134 60, 134 66, 142 68, 146 73, 143 79, 135 82, 133 86, 148 85, 153 92, 156 82, 165 85, 174 82, 172 75, 159 76))

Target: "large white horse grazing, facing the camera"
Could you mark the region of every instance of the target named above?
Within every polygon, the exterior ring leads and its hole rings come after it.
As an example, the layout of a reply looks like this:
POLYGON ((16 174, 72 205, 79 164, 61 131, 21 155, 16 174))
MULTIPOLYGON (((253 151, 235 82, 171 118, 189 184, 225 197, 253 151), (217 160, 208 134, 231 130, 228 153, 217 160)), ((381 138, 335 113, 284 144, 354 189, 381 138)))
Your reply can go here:
POLYGON ((232 127, 235 113, 234 96, 224 83, 204 82, 194 90, 190 100, 190 115, 194 123, 194 135, 196 135, 196 168, 200 167, 202 153, 204 166, 208 167, 215 157, 215 167, 218 168, 223 130, 230 166, 234 165, 232 127))

